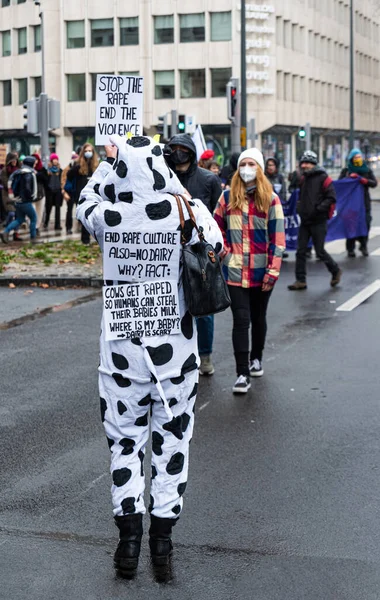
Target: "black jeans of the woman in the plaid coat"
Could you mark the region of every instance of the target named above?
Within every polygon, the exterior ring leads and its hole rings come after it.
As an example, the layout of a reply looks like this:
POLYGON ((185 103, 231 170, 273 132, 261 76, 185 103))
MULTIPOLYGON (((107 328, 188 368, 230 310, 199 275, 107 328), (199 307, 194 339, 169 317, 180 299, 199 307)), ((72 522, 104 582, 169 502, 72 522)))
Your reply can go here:
POLYGON ((267 308, 272 291, 261 287, 228 286, 233 316, 232 344, 236 373, 249 375, 249 357, 262 360, 267 334, 267 308), (249 353, 249 326, 251 325, 251 353, 249 353))

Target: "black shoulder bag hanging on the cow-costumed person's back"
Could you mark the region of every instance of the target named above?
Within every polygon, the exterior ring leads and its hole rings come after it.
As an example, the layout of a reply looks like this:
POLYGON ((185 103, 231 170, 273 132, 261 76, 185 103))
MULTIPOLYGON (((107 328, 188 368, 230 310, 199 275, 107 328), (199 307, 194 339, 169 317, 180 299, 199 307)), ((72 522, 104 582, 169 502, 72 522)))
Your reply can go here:
POLYGON ((181 223, 183 261, 183 289, 187 308, 193 317, 205 317, 226 310, 231 304, 230 294, 223 277, 219 257, 198 227, 190 204, 183 196, 175 196, 181 223), (197 230, 199 242, 186 244, 185 217, 182 202, 186 205, 190 221, 197 230))

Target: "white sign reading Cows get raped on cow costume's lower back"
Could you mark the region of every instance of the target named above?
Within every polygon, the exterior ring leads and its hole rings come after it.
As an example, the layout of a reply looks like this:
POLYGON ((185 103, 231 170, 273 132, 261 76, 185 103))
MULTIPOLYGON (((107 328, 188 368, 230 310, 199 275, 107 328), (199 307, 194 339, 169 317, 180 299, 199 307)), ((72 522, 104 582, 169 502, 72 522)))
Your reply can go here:
POLYGON ((176 281, 103 287, 106 341, 181 333, 176 281))

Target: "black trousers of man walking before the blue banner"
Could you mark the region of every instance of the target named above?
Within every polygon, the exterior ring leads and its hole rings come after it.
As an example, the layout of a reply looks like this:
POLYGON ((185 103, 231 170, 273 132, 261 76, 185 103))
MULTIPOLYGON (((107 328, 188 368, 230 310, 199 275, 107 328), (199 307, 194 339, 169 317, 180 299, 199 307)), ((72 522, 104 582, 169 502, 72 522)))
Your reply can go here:
POLYGON ((306 283, 306 252, 309 239, 313 240, 313 246, 318 258, 325 263, 332 275, 336 275, 339 267, 335 260, 325 250, 325 237, 327 223, 316 223, 315 225, 304 225, 301 223, 298 232, 298 245, 296 253, 296 279, 306 283))

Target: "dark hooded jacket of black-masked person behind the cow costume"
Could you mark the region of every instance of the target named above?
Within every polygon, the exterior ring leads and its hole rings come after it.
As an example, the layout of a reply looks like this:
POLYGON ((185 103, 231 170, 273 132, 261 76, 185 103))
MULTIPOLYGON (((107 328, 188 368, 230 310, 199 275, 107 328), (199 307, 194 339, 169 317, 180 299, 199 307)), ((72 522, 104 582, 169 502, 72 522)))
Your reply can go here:
POLYGON ((191 137, 187 133, 175 135, 167 144, 172 146, 184 146, 190 150, 191 165, 187 171, 177 171, 176 165, 170 161, 170 154, 165 152, 165 159, 171 169, 175 172, 183 187, 187 189, 193 198, 199 198, 207 206, 210 212, 214 212, 216 204, 222 194, 219 178, 201 169, 197 164, 197 150, 191 137))

